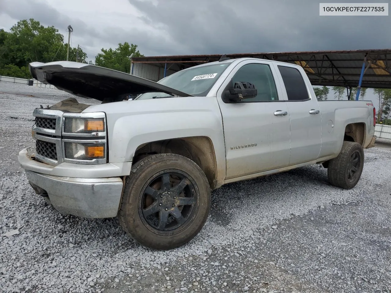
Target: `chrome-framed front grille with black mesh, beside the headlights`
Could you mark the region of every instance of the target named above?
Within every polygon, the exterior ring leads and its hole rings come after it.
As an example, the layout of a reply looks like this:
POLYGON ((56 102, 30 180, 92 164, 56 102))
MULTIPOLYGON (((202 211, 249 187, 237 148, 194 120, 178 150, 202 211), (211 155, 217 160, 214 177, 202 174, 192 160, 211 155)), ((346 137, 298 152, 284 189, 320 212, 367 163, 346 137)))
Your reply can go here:
POLYGON ((56 166, 63 163, 61 143, 62 111, 35 109, 32 136, 36 141, 35 159, 56 166))

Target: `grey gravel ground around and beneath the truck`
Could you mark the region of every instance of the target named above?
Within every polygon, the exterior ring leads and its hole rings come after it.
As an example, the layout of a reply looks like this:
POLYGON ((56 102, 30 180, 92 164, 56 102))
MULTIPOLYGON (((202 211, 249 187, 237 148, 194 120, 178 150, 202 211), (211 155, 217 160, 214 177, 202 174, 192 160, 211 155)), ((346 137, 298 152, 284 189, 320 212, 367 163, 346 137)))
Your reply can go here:
POLYGON ((0 83, 1 292, 391 292, 391 149, 365 150, 348 191, 317 165, 227 184, 190 243, 154 251, 117 218, 62 216, 28 185, 17 153, 33 144, 32 111, 68 96, 0 83))

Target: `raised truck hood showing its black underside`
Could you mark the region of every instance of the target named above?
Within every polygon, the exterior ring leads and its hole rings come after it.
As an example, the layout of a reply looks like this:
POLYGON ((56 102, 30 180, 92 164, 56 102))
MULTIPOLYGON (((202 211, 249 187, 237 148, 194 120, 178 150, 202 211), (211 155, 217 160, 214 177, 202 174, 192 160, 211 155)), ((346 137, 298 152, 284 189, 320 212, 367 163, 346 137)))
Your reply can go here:
POLYGON ((148 92, 191 96, 148 79, 86 63, 33 62, 29 64, 29 69, 34 79, 44 84, 52 84, 76 96, 104 102, 120 101, 126 95, 148 92))

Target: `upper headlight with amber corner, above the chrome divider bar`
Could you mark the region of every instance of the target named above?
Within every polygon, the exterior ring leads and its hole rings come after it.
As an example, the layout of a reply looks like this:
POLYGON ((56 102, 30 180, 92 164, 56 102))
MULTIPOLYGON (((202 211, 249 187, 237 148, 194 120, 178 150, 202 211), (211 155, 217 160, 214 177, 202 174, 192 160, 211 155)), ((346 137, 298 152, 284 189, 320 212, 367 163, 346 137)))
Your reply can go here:
POLYGON ((103 118, 65 118, 65 133, 104 132, 103 118))

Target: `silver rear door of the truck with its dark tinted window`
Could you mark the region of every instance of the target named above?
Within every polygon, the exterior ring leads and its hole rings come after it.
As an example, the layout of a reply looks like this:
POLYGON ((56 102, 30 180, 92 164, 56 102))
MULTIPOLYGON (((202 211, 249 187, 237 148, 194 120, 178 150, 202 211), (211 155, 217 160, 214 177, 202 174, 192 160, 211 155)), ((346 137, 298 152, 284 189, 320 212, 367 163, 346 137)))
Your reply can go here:
POLYGON ((276 64, 285 85, 285 95, 291 118, 291 158, 289 165, 313 161, 319 157, 322 145, 321 113, 312 87, 303 79, 305 71, 296 66, 276 64))

